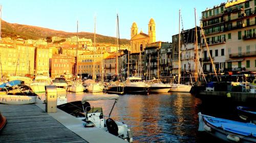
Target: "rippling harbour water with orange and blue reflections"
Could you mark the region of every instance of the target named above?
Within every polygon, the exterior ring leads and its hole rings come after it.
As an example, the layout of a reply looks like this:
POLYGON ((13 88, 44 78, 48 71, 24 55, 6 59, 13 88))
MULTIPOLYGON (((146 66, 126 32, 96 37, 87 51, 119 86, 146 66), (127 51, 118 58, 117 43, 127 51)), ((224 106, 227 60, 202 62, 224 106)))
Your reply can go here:
MULTIPOLYGON (((71 102, 81 100, 89 94, 62 93, 58 96, 62 96, 64 102, 67 96, 67 102, 71 102)), ((91 106, 102 106, 104 116, 109 115, 113 103, 111 100, 90 101, 91 106)), ((221 142, 197 131, 197 114, 202 111, 211 116, 233 118, 232 108, 213 102, 203 103, 190 93, 126 94, 119 96, 111 118, 124 122, 131 128, 134 142, 221 142)))

